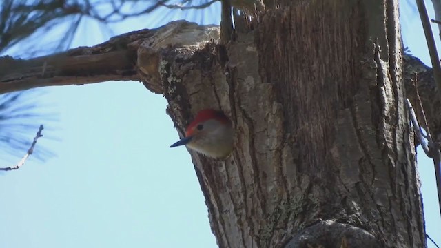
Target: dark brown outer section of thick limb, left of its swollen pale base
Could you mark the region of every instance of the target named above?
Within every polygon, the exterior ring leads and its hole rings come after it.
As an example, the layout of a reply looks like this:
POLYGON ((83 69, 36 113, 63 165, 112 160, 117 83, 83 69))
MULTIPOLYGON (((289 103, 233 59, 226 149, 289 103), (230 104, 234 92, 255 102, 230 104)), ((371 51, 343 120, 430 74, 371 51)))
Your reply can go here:
POLYGON ((6 56, 0 59, 0 70, 10 66, 14 70, 1 75, 0 93, 52 85, 136 80, 139 78, 132 63, 133 55, 134 52, 122 50, 79 56, 66 52, 30 60, 6 56))

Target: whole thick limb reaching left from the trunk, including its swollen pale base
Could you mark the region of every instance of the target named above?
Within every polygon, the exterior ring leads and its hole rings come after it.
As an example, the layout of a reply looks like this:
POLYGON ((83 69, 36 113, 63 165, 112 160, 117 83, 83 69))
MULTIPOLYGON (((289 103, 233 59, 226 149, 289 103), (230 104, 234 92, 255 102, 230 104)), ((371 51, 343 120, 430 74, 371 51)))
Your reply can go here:
POLYGON ((0 94, 53 85, 104 81, 143 81, 161 92, 158 53, 178 45, 200 45, 218 39, 213 25, 174 21, 160 28, 122 34, 93 47, 80 47, 34 59, 0 57, 0 94), (156 81, 156 83, 155 83, 156 81))

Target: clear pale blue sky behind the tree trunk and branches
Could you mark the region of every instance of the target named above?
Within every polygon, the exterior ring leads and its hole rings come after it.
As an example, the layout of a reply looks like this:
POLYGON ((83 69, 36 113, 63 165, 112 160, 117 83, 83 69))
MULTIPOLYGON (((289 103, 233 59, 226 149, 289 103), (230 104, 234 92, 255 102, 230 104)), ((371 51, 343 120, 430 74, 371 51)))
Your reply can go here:
MULTIPOLYGON (((429 64, 416 9, 400 2, 405 45, 429 64)), ((114 25, 114 32, 184 18, 176 14, 161 22, 161 11, 114 25)), ((201 23, 200 16, 190 20, 201 23)), ((206 23, 219 20, 216 11, 207 12, 206 23)), ((72 47, 109 38, 97 29, 81 23, 72 47)), ((37 99, 41 111, 57 112, 58 118, 35 123, 35 131, 40 123, 46 127, 36 149, 56 156, 46 161, 31 156, 21 169, 1 174, 2 247, 217 247, 190 156, 183 147, 169 148, 178 134, 163 96, 138 82, 43 91, 37 99)), ((427 234, 441 244, 433 164, 420 150, 418 155, 427 234)), ((1 164, 17 161, 5 156, 1 164)))

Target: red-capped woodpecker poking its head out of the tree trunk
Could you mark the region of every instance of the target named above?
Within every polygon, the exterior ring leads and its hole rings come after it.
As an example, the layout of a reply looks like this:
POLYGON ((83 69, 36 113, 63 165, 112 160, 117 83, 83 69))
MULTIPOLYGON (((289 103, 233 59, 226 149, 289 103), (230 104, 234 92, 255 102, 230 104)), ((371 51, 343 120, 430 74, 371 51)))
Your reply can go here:
POLYGON ((233 149, 232 122, 222 111, 201 110, 187 127, 185 138, 170 147, 186 145, 212 158, 225 158, 233 149))

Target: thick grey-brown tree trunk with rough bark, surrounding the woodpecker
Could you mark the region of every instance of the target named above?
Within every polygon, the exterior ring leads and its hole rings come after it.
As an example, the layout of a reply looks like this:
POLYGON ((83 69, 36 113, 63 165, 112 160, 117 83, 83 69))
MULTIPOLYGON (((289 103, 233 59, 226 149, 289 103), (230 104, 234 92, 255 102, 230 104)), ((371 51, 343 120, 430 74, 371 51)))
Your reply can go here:
POLYGON ((424 247, 396 1, 280 4, 225 45, 218 28, 172 23, 127 41, 132 61, 118 65, 165 95, 181 136, 202 108, 232 118, 229 158, 192 153, 218 245, 424 247))

